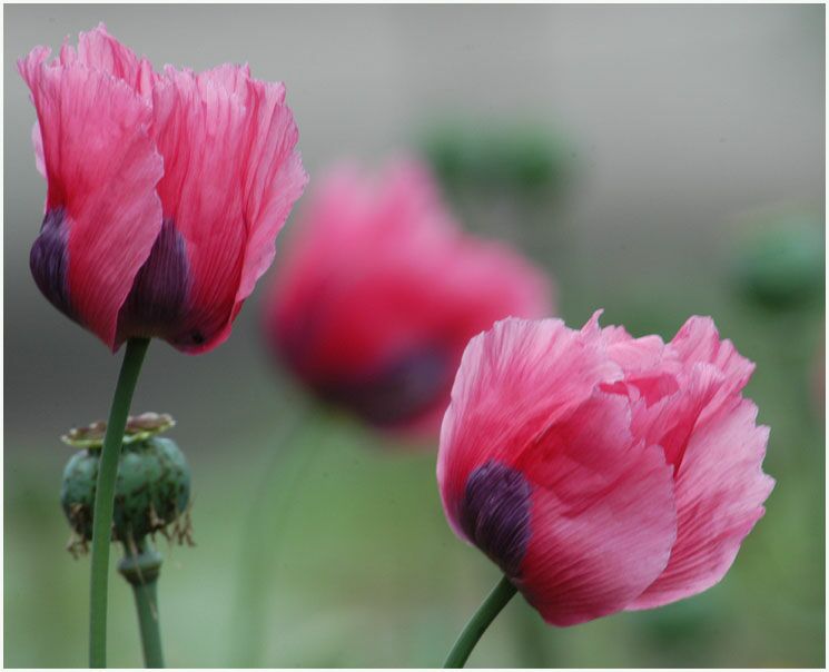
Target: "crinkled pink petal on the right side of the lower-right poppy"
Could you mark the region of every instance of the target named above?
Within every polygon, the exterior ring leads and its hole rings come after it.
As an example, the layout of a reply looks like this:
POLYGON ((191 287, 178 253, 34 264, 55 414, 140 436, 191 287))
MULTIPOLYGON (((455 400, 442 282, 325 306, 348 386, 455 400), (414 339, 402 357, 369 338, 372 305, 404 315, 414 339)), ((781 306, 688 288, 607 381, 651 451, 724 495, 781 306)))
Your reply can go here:
POLYGON ((762 472, 769 428, 757 425, 757 406, 741 395, 753 364, 720 340, 710 318, 689 319, 667 349, 688 373, 663 402, 665 419, 651 432, 662 434, 675 465, 678 536, 665 571, 631 609, 660 606, 717 584, 774 486, 762 472))

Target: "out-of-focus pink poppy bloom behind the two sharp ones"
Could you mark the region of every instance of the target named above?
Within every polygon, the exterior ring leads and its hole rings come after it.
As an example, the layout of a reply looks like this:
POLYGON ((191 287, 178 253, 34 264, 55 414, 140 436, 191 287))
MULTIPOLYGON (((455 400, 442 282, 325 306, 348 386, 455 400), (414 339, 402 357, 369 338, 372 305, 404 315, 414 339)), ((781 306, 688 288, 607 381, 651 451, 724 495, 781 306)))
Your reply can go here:
POLYGON ((436 433, 463 348, 509 315, 551 310, 551 284, 464 234, 413 161, 333 170, 266 306, 269 344, 322 398, 383 427, 436 433))

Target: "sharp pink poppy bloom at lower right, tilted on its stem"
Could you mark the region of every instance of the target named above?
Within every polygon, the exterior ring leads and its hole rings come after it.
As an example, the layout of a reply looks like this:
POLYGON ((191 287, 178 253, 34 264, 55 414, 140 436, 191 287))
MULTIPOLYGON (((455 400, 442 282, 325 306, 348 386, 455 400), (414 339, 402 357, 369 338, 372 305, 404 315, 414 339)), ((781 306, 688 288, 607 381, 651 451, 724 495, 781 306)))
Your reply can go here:
POLYGON ((506 319, 474 338, 437 462, 455 533, 549 623, 649 609, 722 579, 773 486, 754 365, 710 318, 673 340, 506 319))

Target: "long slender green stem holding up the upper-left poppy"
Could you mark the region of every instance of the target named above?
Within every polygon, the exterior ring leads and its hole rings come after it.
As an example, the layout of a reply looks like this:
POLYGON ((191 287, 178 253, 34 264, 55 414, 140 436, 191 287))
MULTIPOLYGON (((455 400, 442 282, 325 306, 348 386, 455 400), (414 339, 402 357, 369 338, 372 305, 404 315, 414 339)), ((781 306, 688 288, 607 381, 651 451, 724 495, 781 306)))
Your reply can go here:
POLYGON ((109 579, 109 543, 112 534, 112 508, 118 458, 121 454, 124 429, 138 382, 148 338, 130 338, 124 354, 121 373, 115 388, 112 407, 107 422, 107 434, 101 447, 98 481, 92 513, 92 577, 89 586, 89 666, 107 666, 107 582, 109 579))

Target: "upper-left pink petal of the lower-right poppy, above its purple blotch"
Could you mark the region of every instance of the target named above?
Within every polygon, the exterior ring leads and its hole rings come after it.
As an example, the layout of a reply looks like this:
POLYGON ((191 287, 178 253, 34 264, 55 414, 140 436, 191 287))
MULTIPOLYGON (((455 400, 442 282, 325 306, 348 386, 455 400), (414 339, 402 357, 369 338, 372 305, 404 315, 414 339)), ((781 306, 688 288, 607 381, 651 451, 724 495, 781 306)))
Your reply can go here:
POLYGON ((559 319, 507 318, 463 355, 441 427, 437 481, 455 532, 470 474, 487 461, 512 466, 536 436, 622 376, 599 343, 559 319))

